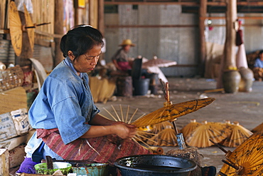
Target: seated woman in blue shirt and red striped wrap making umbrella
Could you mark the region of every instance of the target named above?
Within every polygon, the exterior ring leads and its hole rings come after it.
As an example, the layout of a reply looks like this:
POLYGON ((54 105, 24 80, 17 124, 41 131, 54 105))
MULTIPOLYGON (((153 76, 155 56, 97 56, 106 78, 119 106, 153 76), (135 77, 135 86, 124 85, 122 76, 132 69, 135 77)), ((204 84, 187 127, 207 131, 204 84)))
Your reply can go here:
POLYGON ((149 153, 129 139, 136 134, 134 125, 103 118, 92 100, 87 72, 95 68, 103 44, 102 34, 92 26, 78 26, 61 38, 65 59, 46 78, 28 111, 36 133, 18 173, 34 173, 33 165, 46 155, 112 163, 118 157, 149 153))

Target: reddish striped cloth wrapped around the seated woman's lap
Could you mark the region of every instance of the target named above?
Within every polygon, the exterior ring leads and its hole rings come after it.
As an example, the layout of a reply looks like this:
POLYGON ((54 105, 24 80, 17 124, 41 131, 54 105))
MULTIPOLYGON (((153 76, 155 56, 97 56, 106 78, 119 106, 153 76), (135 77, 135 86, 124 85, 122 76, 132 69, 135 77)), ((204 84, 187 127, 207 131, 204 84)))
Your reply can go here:
POLYGON ((37 129, 36 131, 37 138, 42 138, 44 143, 60 157, 63 157, 64 160, 90 160, 113 164, 119 157, 151 154, 139 143, 131 139, 123 140, 117 135, 89 139, 79 138, 65 145, 58 128, 50 130, 37 129))

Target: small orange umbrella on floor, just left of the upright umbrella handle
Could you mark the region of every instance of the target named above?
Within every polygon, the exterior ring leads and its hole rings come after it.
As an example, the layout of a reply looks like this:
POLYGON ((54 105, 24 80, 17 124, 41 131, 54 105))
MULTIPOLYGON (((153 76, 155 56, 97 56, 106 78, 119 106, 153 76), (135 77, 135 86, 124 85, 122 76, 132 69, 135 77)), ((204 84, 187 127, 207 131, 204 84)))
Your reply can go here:
POLYGON ((159 146, 177 146, 176 132, 171 127, 161 130, 156 136, 147 141, 149 145, 159 145, 159 146), (156 141, 154 144, 152 141, 156 141))

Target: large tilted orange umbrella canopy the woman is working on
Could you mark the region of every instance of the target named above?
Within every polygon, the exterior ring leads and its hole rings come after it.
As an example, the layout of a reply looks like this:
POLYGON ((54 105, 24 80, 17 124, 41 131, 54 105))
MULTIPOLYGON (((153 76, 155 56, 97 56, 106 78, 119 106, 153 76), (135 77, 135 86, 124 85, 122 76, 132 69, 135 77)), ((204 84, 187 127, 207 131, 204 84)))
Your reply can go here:
POLYGON ((172 104, 171 101, 163 103, 163 108, 155 110, 148 115, 135 120, 132 124, 137 128, 148 125, 156 125, 167 120, 174 120, 188 113, 193 113, 206 105, 213 103, 215 98, 203 98, 197 100, 189 100, 183 103, 172 104))

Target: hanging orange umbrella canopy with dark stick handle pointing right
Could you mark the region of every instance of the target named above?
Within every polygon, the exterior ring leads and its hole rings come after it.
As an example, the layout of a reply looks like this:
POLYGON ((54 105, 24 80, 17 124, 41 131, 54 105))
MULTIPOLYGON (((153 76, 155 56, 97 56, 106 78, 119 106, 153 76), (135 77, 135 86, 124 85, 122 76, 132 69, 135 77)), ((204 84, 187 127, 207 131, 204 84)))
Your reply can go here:
MULTIPOLYGON (((23 4, 23 9, 25 12, 26 26, 34 26, 33 21, 31 19, 31 16, 28 13, 28 10, 26 9, 26 4, 23 4)), ((28 32, 28 38, 29 38, 30 46, 31 46, 31 49, 33 52, 34 40, 35 40, 35 28, 28 28, 26 30, 28 32)))

